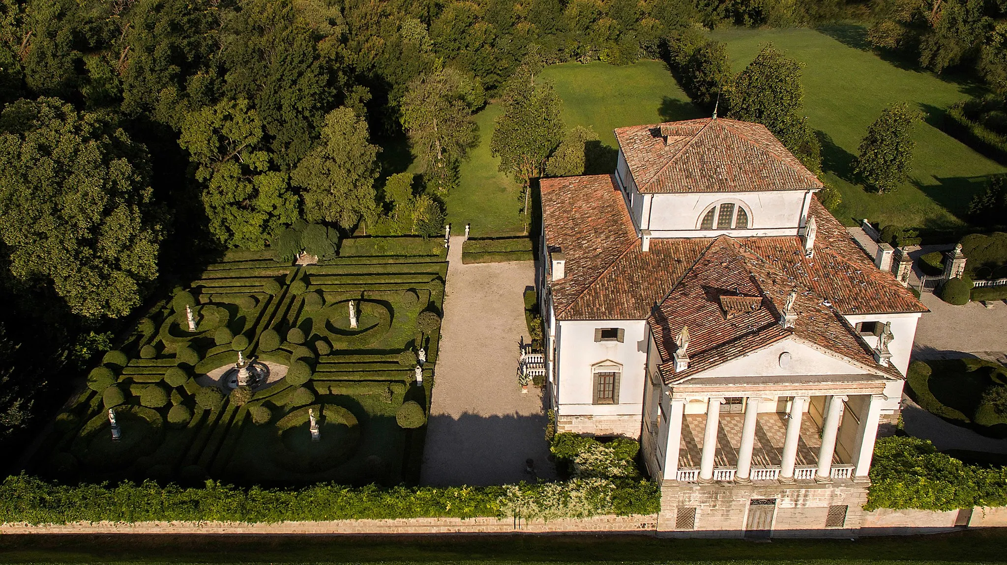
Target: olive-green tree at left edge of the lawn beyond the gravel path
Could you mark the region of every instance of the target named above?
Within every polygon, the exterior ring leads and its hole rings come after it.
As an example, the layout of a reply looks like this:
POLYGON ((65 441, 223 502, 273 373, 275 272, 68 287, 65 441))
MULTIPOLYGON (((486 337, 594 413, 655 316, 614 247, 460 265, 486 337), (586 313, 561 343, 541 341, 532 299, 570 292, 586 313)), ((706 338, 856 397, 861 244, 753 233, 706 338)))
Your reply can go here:
POLYGON ((441 193, 454 184, 458 163, 475 145, 477 129, 471 115, 483 101, 479 83, 453 68, 415 78, 402 99, 402 126, 424 165, 428 184, 441 193))

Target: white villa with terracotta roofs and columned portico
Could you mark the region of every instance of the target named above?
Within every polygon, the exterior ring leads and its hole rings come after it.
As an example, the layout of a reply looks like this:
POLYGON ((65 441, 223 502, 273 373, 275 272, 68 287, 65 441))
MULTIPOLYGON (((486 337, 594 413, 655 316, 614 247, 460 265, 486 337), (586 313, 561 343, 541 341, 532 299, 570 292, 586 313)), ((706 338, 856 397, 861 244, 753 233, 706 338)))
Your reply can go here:
POLYGON ((557 429, 638 437, 659 530, 858 529, 926 308, 765 127, 615 137, 614 174, 541 184, 557 429))

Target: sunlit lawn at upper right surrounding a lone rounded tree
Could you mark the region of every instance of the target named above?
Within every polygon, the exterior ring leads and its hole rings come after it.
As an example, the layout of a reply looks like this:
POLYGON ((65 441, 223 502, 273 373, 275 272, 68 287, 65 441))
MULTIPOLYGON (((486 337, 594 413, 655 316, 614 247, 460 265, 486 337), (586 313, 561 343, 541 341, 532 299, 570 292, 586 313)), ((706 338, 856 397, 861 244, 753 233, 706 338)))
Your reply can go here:
POLYGON ((713 33, 727 43, 734 70, 771 41, 804 68, 805 111, 812 128, 825 135, 825 180, 843 193, 836 215, 848 225, 862 218, 904 226, 953 228, 985 176, 1007 171, 941 132, 943 113, 976 92, 975 85, 938 77, 886 61, 862 46, 862 30, 727 29, 713 33), (834 38, 834 37, 838 37, 834 38), (892 103, 910 102, 928 117, 916 128, 910 179, 891 194, 871 194, 852 182, 851 160, 864 133, 892 103))

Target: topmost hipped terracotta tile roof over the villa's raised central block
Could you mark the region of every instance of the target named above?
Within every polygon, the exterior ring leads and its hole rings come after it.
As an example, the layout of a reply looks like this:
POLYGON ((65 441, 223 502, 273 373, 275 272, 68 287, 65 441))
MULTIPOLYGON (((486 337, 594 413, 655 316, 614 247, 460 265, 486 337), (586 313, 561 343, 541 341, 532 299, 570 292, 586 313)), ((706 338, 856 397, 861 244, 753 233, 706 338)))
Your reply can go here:
POLYGON ((618 128, 615 139, 641 193, 807 190, 823 186, 760 124, 706 118, 618 128))

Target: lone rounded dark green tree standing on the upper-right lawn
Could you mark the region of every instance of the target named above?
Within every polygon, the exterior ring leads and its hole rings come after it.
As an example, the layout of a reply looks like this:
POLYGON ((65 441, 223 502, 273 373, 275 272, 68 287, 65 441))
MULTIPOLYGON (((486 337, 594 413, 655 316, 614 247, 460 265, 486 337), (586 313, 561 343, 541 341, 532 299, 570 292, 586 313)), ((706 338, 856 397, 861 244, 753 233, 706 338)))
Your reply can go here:
POLYGON ((860 142, 854 173, 879 193, 891 192, 905 181, 912 167, 912 130, 922 115, 907 103, 892 105, 867 128, 860 142))

